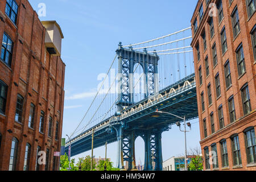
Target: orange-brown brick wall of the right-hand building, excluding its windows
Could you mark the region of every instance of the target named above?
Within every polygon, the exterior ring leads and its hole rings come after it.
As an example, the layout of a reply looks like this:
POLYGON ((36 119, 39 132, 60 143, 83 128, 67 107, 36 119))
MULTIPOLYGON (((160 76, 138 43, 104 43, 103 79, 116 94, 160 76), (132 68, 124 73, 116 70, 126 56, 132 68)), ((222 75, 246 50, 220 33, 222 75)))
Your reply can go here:
MULTIPOLYGON (((210 3, 216 3, 216 0, 210 1, 210 3)), ((193 47, 194 53, 194 60, 195 60, 195 73, 196 73, 196 82, 197 82, 197 101, 199 107, 199 120, 200 120, 200 135, 201 135, 201 148, 202 154, 204 155, 203 148, 208 146, 210 150, 210 145, 212 143, 217 143, 218 148, 218 160, 219 160, 219 169, 221 168, 221 151, 220 151, 220 140, 226 139, 228 144, 228 155, 229 155, 229 168, 233 170, 233 160, 232 160, 232 152, 229 137, 237 133, 240 137, 240 148, 241 148, 241 156, 242 156, 242 168, 237 169, 246 169, 246 170, 255 170, 256 165, 254 167, 247 166, 246 160, 246 151, 245 151, 245 143, 243 137, 243 130, 245 130, 249 126, 255 127, 256 125, 256 77, 255 77, 255 60, 254 60, 254 53, 253 53, 253 46, 251 42, 250 31, 254 27, 256 23, 256 14, 254 13, 251 18, 248 18, 247 9, 246 9, 246 2, 245 0, 234 0, 231 5, 229 5, 228 0, 222 0, 223 6, 223 13, 224 19, 221 23, 218 22, 218 16, 213 17, 213 24, 214 24, 214 36, 210 38, 210 28, 208 24, 209 20, 209 7, 207 8, 206 1, 200 0, 197 3, 195 13, 191 19, 192 24, 192 36, 193 40, 191 46, 193 47), (204 7, 204 16, 203 19, 199 20, 199 7, 203 2, 204 7), (231 14, 234 8, 237 6, 238 14, 240 18, 240 29, 241 32, 237 36, 236 39, 233 37, 233 27, 232 27, 232 19, 231 14), (194 33, 193 32, 193 22, 197 18, 198 29, 194 33), (225 26, 226 30, 226 40, 228 51, 226 51, 222 55, 222 47, 221 47, 221 30, 225 26), (207 49, 204 51, 203 46, 203 39, 201 38, 201 34, 205 30, 206 39, 207 39, 207 49), (200 55, 201 59, 197 61, 197 52, 196 52, 196 45, 199 43, 200 45, 200 55), (213 67, 213 58, 212 58, 212 46, 216 43, 217 49, 217 59, 218 64, 216 67, 213 67), (243 52, 245 56, 245 64, 246 64, 246 73, 245 75, 238 76, 238 68, 237 68, 237 58, 236 58, 236 49, 242 43, 243 45, 243 52), (208 55, 208 63, 209 63, 209 70, 210 74, 207 77, 205 73, 205 57, 208 55), (226 61, 229 60, 230 63, 230 71, 231 71, 231 78, 232 78, 232 86, 226 89, 226 81, 225 81, 225 72, 224 72, 224 64, 226 61), (199 84, 199 67, 202 67, 202 74, 203 74, 203 84, 199 84), (217 99, 216 96, 216 87, 215 87, 215 80, 214 77, 216 74, 219 73, 220 76, 220 85, 221 85, 221 97, 217 99), (211 84, 212 89, 212 101, 213 104, 209 106, 208 102, 208 92, 207 86, 211 84), (241 98, 241 88, 244 84, 248 83, 249 92, 250 92, 250 103, 251 103, 251 113, 246 117, 243 114, 243 106, 242 106, 242 98, 241 98), (201 96, 200 94, 204 92, 204 100, 205 100, 205 111, 202 112, 201 109, 201 96), (230 123, 230 116, 229 116, 229 106, 228 106, 228 99, 230 96, 234 96, 234 104, 236 109, 236 119, 237 121, 234 123, 230 123), (224 129, 220 130, 220 124, 218 121, 218 106, 222 104, 223 106, 223 113, 224 113, 224 122, 225 127, 224 129), (212 134, 211 132, 211 125, 210 125, 210 113, 214 113, 214 125, 216 133, 212 134), (204 128, 203 128, 203 119, 207 119, 207 135, 208 137, 204 137, 204 128)), ((211 166, 212 169, 212 166, 211 166)))

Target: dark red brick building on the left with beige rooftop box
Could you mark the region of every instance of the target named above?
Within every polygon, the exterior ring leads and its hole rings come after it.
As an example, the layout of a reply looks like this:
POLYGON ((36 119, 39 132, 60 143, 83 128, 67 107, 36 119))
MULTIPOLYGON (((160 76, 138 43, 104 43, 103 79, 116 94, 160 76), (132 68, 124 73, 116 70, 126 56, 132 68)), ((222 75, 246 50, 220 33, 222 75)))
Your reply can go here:
POLYGON ((0 1, 0 170, 56 170, 64 105, 63 34, 27 0, 0 1), (46 164, 39 165, 39 151, 46 164))

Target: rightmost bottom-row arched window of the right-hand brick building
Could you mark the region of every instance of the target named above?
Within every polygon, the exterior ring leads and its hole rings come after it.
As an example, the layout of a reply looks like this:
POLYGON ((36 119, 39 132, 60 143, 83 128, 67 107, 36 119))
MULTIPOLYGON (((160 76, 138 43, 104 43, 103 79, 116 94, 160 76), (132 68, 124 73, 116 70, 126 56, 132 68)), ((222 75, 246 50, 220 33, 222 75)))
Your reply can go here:
POLYGON ((249 131, 245 131, 245 144, 247 163, 256 163, 256 139, 255 131, 253 128, 251 128, 249 131))

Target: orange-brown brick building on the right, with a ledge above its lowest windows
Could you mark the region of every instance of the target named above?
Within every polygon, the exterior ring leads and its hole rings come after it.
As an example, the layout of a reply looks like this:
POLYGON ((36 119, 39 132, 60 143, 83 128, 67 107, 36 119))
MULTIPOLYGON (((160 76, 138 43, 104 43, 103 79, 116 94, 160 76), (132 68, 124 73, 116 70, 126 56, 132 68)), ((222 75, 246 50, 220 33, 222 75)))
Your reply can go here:
POLYGON ((256 170, 255 23, 255 0, 200 0, 193 13, 204 170, 256 170))

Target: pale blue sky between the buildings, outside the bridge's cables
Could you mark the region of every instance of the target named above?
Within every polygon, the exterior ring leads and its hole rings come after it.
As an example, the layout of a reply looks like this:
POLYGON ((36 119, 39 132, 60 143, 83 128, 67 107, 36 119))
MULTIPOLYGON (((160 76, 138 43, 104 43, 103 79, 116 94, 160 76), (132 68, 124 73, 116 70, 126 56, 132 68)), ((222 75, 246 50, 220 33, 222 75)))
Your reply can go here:
MULTIPOLYGON (((93 99, 93 90, 105 73, 118 43, 143 42, 187 28, 197 0, 30 0, 35 11, 39 3, 46 4, 46 16, 41 20, 56 20, 64 34, 62 55, 65 72, 65 100, 63 137, 71 134, 81 121, 93 99), (77 97, 80 96, 80 97, 77 97)), ((200 146, 198 119, 191 121, 188 148, 200 146)), ((144 143, 135 142, 137 164, 144 160, 144 143)), ((163 160, 184 154, 184 133, 178 127, 163 133, 163 160)), ((108 158, 116 162, 116 143, 109 144, 108 158)), ((105 148, 94 150, 96 157, 105 156, 105 148)), ((90 151, 78 155, 90 155, 90 151)))

